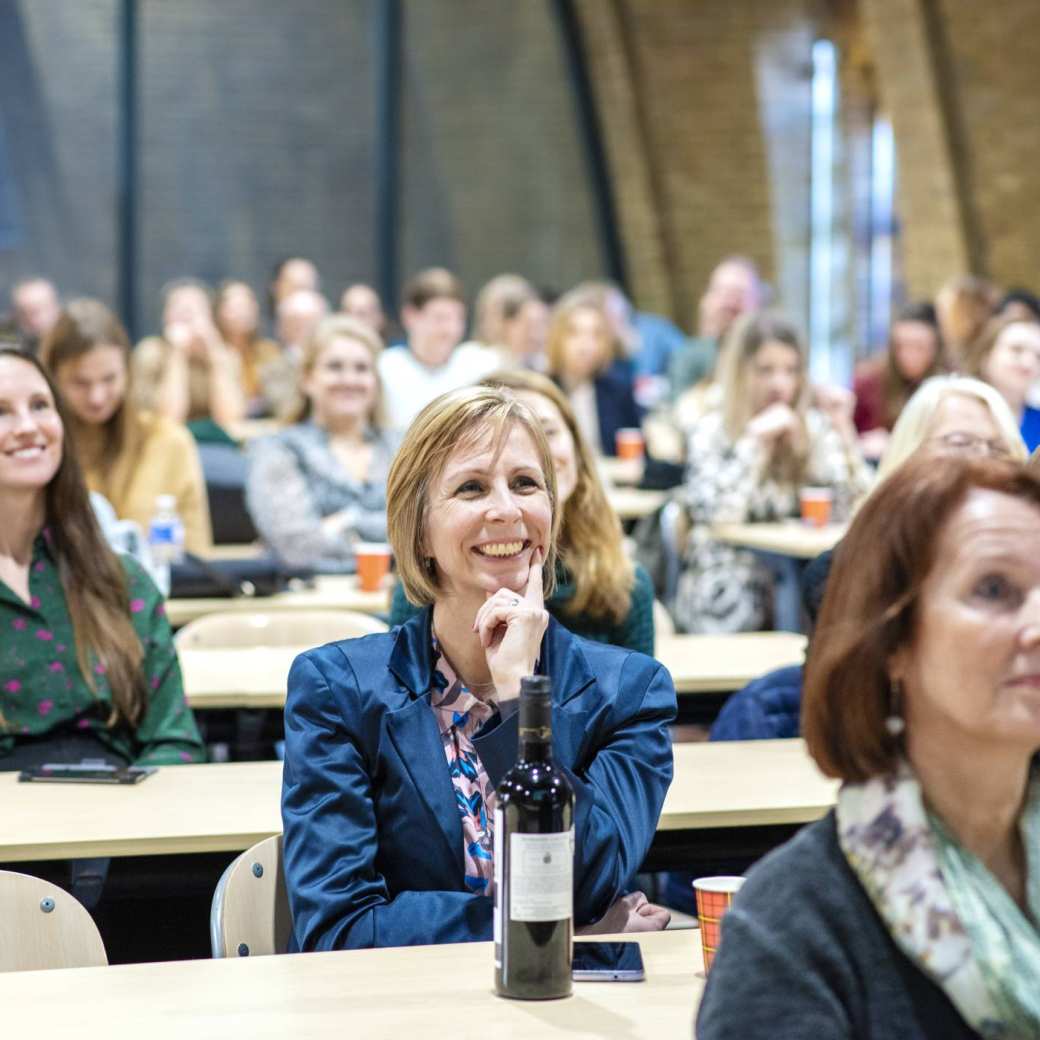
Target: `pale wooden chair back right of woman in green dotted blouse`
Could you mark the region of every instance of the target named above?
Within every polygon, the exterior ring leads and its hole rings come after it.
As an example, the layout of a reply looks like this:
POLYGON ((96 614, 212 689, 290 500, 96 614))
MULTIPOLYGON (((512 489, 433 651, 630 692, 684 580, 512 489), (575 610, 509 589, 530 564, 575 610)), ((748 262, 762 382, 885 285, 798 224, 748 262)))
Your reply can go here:
POLYGON ((386 630, 379 618, 358 610, 229 610, 189 621, 174 642, 178 650, 313 647, 386 630))

